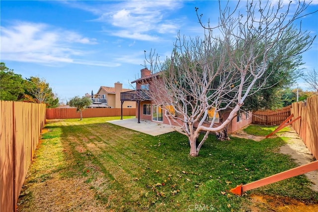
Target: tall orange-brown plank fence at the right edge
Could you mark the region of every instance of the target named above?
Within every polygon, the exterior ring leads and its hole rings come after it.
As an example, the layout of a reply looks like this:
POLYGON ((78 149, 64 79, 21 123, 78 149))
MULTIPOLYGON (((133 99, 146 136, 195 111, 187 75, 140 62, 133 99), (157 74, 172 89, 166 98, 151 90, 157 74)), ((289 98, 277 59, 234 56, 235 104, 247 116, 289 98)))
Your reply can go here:
POLYGON ((308 98, 306 103, 293 103, 291 112, 294 118, 301 116, 292 123, 292 127, 318 160, 318 95, 308 98))

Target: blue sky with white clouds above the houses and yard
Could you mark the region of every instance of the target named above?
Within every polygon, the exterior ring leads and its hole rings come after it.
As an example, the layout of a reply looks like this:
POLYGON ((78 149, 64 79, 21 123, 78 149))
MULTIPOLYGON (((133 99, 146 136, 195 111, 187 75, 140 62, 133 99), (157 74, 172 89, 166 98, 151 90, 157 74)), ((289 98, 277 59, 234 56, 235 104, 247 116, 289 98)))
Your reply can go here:
MULTIPOLYGON (((144 50, 165 58, 178 31, 202 35, 194 7, 211 22, 219 11, 214 0, 1 0, 0 6, 1 62, 23 78, 44 78, 64 103, 115 82, 132 88, 144 50)), ((308 11, 317 9, 313 0, 308 11)), ((318 13, 302 21, 303 30, 318 34, 318 13)), ((318 70, 318 39, 303 61, 303 68, 318 70)))

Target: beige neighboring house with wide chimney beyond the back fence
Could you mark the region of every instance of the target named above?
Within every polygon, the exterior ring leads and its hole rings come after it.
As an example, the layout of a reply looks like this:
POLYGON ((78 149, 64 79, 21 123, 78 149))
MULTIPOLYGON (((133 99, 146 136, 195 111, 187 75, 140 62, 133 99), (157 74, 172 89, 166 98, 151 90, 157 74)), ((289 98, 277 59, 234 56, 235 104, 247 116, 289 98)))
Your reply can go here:
MULTIPOLYGON (((120 93, 132 91, 131 89, 123 89, 123 84, 117 82, 114 87, 101 86, 96 94, 93 95, 93 104, 89 107, 111 107, 121 108, 120 93)), ((92 97, 85 94, 85 96, 92 97)), ((134 101, 126 101, 123 108, 136 108, 134 101)))

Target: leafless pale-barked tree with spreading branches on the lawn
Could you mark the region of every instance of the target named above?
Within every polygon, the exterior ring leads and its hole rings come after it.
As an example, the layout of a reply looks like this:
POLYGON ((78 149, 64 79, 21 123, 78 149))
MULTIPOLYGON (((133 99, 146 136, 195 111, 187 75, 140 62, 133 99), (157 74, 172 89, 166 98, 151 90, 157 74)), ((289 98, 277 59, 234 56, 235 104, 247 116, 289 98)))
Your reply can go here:
MULTIPOLYGON (((308 7, 305 2, 299 2, 290 14, 290 4, 284 9, 281 2, 272 5, 270 1, 247 1, 241 13, 239 4, 231 11, 228 4, 221 8, 219 1, 217 26, 210 26, 209 22, 204 25, 196 8, 204 37, 186 39, 178 35, 171 58, 161 63, 156 53, 150 52, 145 62, 152 70, 148 95, 157 105, 170 108, 165 116, 170 125, 179 126, 176 129, 189 138, 191 156, 198 155, 209 132, 222 134, 244 100, 262 89, 275 71, 266 71, 271 54, 279 53, 271 50, 276 49, 282 38, 301 34, 300 29, 298 34, 287 32, 308 7), (203 123, 211 109, 212 120, 205 126, 203 123), (229 116, 216 125, 217 115, 225 111, 229 116), (197 145, 201 131, 205 135, 197 145)), ((295 54, 306 51, 312 41, 295 54)))

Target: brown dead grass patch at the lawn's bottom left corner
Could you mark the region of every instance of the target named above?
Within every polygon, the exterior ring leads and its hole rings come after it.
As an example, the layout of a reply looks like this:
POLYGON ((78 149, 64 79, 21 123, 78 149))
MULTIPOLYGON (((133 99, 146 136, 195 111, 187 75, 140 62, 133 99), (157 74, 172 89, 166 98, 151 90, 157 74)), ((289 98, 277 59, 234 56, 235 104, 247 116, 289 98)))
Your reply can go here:
POLYGON ((45 182, 24 187, 23 191, 28 191, 31 198, 21 197, 18 211, 100 212, 105 210, 104 206, 96 201, 95 192, 89 189, 82 179, 61 179, 58 174, 51 177, 45 182))

